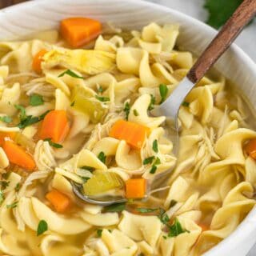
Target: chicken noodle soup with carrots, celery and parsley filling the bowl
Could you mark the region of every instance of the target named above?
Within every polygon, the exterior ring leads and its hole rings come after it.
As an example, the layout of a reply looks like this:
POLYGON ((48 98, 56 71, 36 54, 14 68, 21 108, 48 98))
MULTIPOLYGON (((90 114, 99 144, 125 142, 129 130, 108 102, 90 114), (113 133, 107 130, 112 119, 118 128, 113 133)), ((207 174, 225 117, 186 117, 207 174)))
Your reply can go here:
POLYGON ((60 32, 0 42, 0 252, 186 256, 226 238, 255 204, 256 132, 241 94, 202 78, 179 112, 176 158, 166 117, 149 111, 193 65, 178 25, 106 33, 69 18, 60 32), (86 204, 70 180, 128 202, 86 204))

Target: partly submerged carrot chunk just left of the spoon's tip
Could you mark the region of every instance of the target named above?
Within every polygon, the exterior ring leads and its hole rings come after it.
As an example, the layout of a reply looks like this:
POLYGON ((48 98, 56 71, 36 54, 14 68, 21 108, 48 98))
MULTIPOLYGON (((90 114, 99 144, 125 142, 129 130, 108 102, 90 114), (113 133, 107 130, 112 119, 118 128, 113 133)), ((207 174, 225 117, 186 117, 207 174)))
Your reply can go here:
POLYGON ((51 190, 46 194, 46 199, 52 204, 52 206, 54 206, 54 209, 58 213, 65 213, 72 205, 70 198, 58 190, 51 190))

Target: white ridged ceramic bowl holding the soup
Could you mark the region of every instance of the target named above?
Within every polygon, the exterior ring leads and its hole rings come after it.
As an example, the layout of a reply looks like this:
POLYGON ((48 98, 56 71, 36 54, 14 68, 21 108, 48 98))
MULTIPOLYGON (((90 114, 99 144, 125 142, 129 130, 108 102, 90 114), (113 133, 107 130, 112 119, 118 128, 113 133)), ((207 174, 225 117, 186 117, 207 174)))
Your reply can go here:
MULTIPOLYGON (((178 44, 200 54, 216 30, 178 11, 139 0, 38 0, 0 11, 0 40, 15 39, 36 30, 58 27, 62 18, 86 16, 116 26, 138 29, 149 22, 179 23, 178 44)), ((256 65, 238 46, 231 46, 215 65, 256 104, 256 65)), ((232 218, 232 216, 230 216, 232 218)), ((256 242, 256 208, 238 228, 205 256, 243 256, 256 242)))

